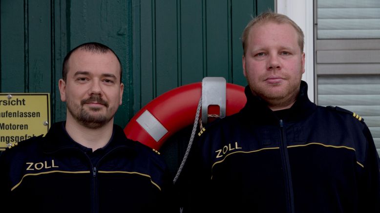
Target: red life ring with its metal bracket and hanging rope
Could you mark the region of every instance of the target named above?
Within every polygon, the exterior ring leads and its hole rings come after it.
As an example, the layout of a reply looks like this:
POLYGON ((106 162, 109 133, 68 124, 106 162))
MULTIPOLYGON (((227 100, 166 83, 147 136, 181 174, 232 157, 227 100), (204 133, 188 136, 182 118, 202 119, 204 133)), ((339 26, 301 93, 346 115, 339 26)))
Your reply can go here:
POLYGON ((193 123, 189 146, 174 178, 175 182, 191 148, 200 106, 202 123, 206 124, 209 106, 219 106, 219 116, 223 118, 238 112, 246 102, 243 86, 226 83, 222 77, 206 77, 202 83, 174 88, 149 102, 132 117, 124 132, 127 138, 158 152, 171 135, 193 123))

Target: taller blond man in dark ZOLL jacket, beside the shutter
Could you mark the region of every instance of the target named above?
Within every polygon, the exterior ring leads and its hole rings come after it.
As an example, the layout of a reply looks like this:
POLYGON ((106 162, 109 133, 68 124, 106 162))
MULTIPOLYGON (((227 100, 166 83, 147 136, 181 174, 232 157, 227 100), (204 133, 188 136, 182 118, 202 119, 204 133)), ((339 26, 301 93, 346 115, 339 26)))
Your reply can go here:
POLYGON ((267 12, 248 23, 247 104, 200 133, 185 172, 184 212, 380 212, 371 133, 355 113, 310 102, 301 81, 303 40, 284 15, 267 12))

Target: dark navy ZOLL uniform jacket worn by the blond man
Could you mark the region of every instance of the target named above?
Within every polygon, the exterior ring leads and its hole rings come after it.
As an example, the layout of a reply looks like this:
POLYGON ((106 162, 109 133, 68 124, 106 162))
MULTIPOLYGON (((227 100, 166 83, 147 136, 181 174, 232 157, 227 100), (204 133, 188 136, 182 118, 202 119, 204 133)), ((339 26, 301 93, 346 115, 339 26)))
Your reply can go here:
POLYGON ((246 96, 199 133, 183 174, 187 212, 380 212, 379 156, 359 116, 316 106, 305 82, 281 119, 249 87, 246 96))

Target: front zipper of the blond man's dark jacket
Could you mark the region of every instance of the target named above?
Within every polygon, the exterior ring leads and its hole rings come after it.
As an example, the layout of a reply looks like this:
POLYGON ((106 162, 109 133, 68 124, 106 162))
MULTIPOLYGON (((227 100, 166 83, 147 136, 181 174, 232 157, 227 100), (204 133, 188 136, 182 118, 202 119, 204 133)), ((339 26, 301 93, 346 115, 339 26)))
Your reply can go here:
POLYGON ((285 179, 285 192, 286 192, 286 209, 287 213, 294 213, 294 194, 293 194, 293 183, 292 183, 292 174, 290 170, 289 163, 289 154, 286 143, 286 134, 284 128, 284 122, 280 120, 280 129, 281 129, 281 143, 280 143, 280 151, 281 151, 281 159, 282 159, 282 167, 284 168, 284 179, 285 179))

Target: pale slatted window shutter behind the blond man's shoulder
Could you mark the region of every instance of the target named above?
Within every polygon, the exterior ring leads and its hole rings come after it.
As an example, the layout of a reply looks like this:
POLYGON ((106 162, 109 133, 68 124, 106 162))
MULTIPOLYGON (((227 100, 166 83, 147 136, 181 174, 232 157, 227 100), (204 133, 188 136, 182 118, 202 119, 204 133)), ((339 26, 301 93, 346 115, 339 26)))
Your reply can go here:
POLYGON ((380 0, 317 0, 316 102, 353 111, 380 154, 380 0))

